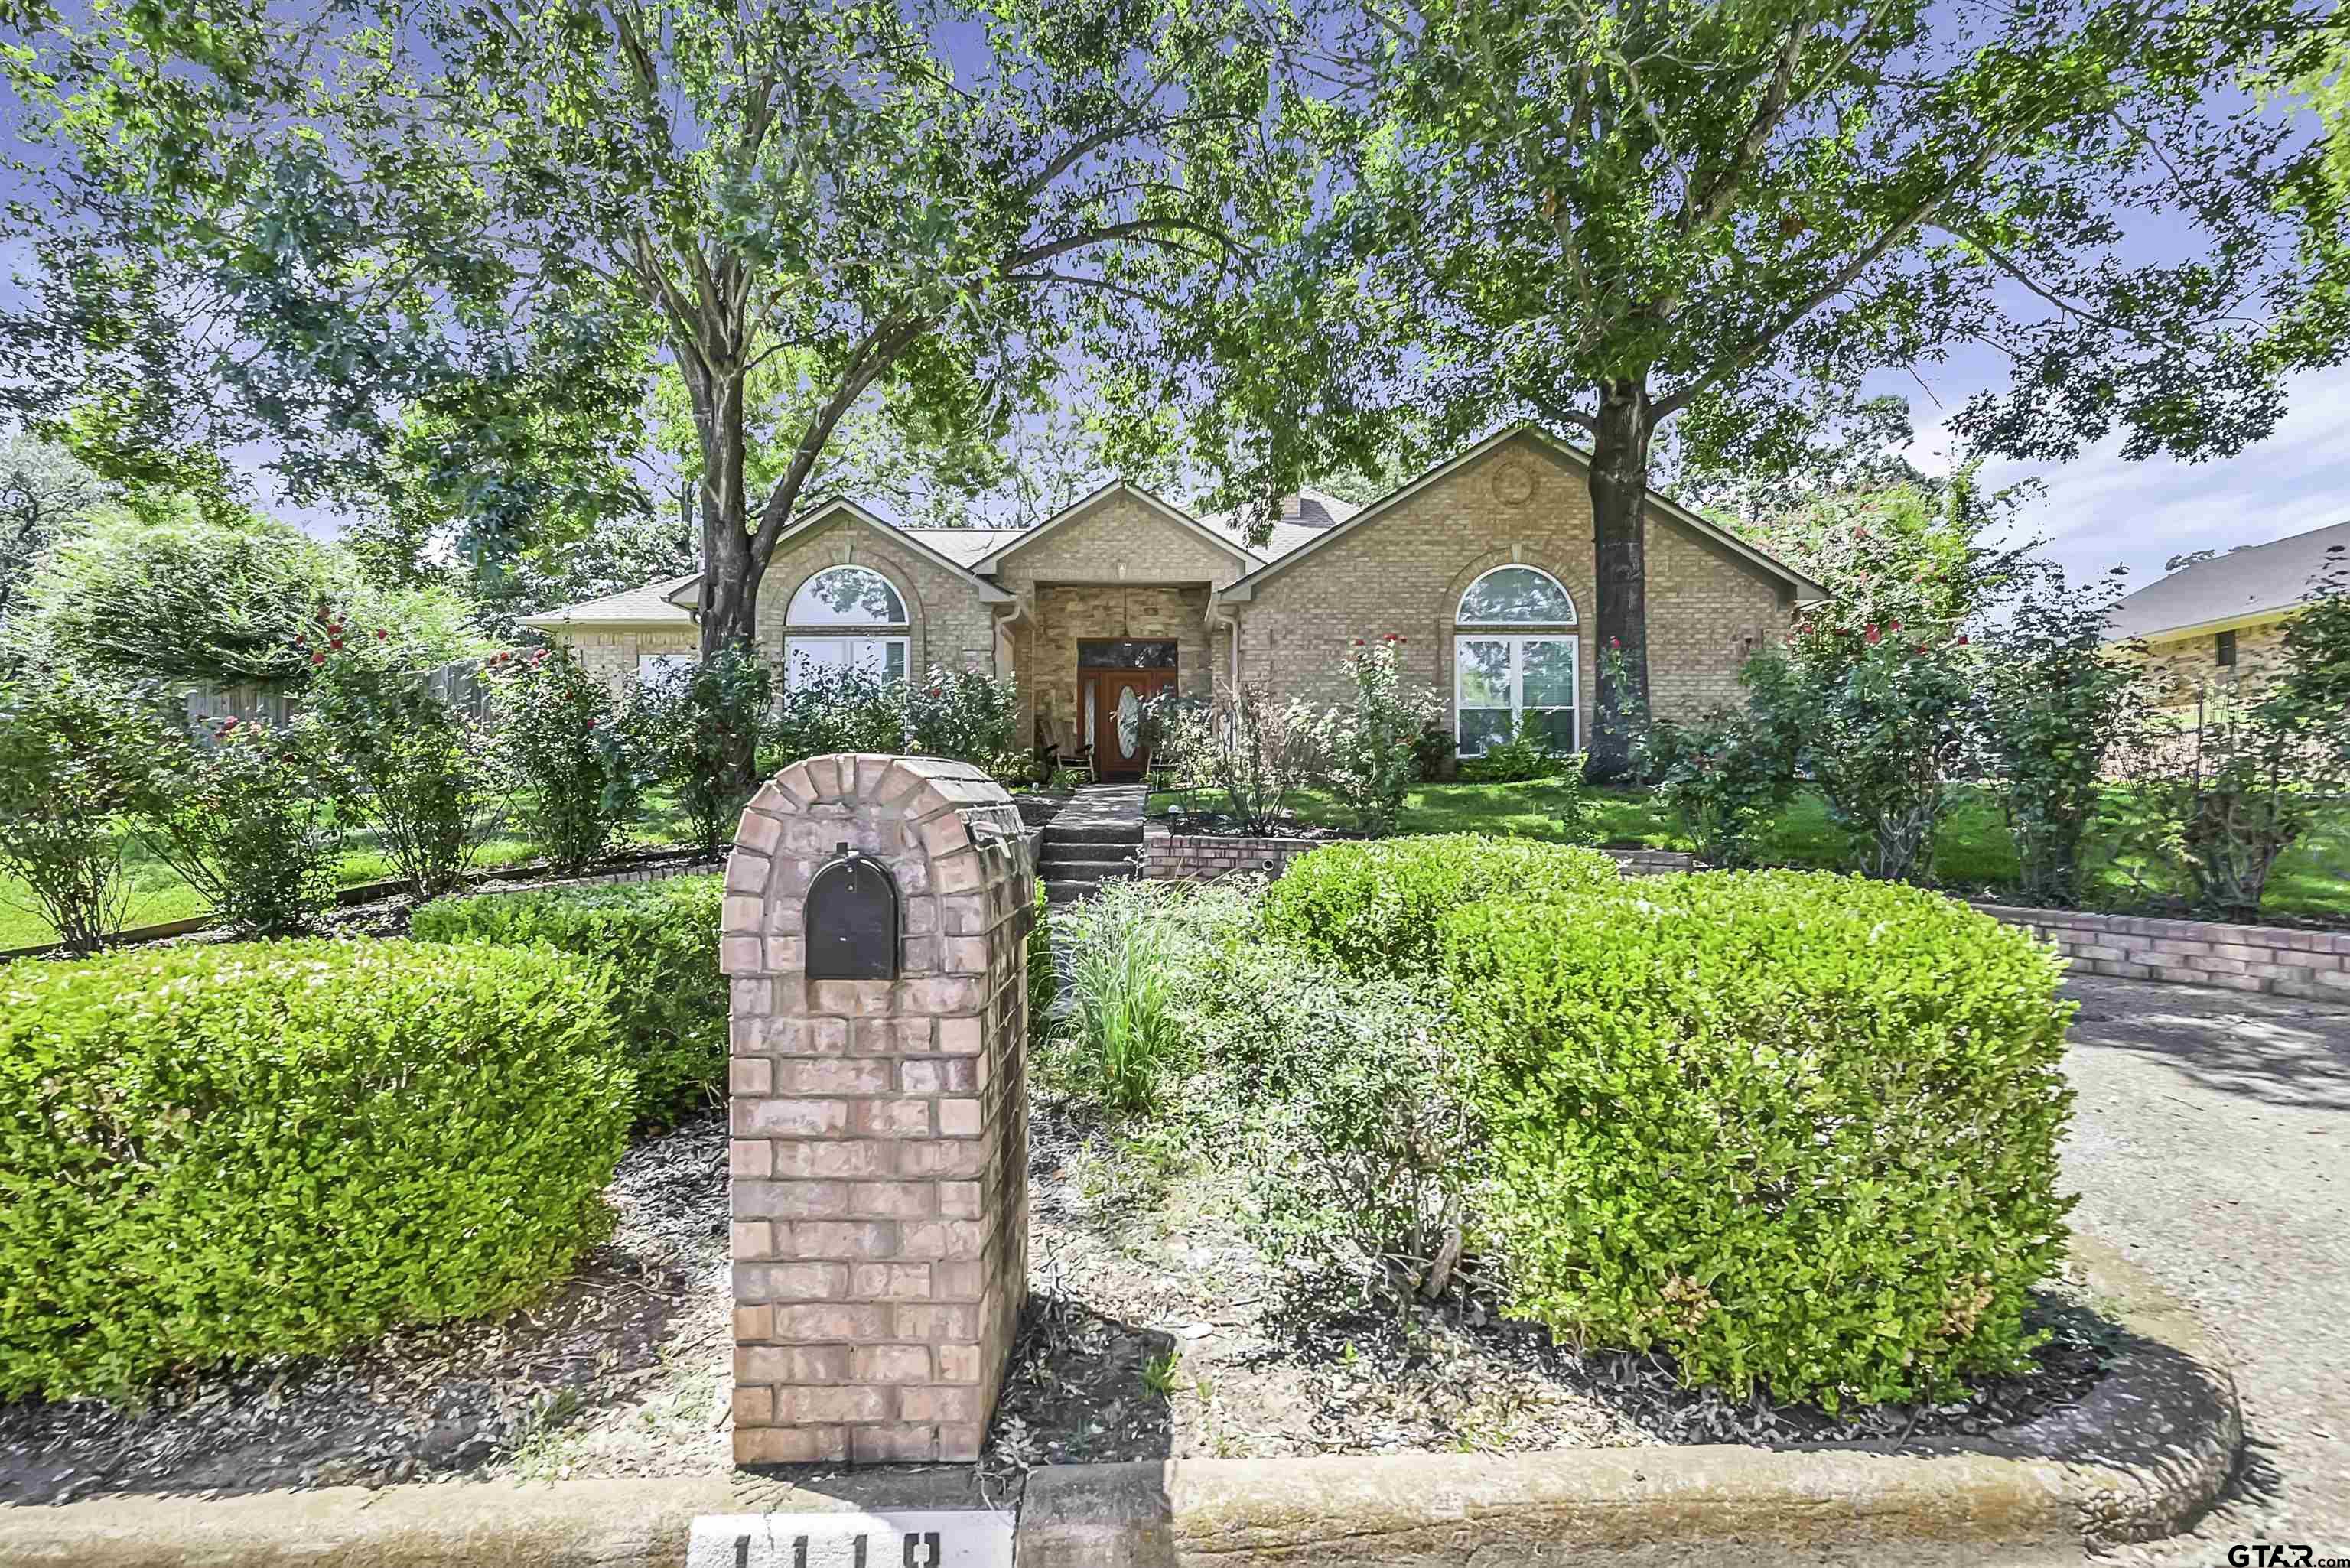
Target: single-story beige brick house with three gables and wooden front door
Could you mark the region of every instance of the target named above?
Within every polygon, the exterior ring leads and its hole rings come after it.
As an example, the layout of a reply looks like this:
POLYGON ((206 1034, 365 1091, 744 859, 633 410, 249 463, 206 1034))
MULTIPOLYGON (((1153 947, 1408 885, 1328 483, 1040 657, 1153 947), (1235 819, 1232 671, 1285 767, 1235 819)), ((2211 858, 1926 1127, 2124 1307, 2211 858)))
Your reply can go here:
MULTIPOLYGON (((696 578, 529 616, 620 684, 691 658, 696 578)), ((1737 701, 1739 668, 1774 639, 1810 578, 1664 496, 1647 503, 1650 693, 1659 712, 1737 701)), ((1133 715, 1175 686, 1351 696, 1356 642, 1403 637, 1405 679, 1445 693, 1476 757, 1520 719, 1579 750, 1591 733, 1593 557, 1586 454, 1504 430, 1363 508, 1290 496, 1271 538, 1243 543, 1133 484, 1034 529, 900 529, 851 501, 783 534, 759 588, 759 644, 785 670, 933 665, 1018 682, 1020 736, 1097 745, 1133 776, 1133 715)))

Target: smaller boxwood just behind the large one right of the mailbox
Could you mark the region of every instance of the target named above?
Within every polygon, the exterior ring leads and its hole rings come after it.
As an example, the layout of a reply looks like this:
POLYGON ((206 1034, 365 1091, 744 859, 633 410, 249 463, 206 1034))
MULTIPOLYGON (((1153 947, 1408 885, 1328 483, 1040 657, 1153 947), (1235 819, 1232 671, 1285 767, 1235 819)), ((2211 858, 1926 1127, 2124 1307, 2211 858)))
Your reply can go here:
POLYGON ((1354 976, 1429 973, 1443 917, 1480 898, 1551 898, 1617 884, 1591 849, 1473 832, 1328 844, 1264 893, 1269 933, 1354 976))

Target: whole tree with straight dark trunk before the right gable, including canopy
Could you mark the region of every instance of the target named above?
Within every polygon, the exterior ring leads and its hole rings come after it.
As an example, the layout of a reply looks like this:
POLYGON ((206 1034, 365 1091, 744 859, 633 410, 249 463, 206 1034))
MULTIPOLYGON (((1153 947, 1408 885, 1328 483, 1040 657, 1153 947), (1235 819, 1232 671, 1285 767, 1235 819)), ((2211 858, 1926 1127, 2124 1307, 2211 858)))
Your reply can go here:
MULTIPOLYGON (((2258 440, 2282 378, 2350 346, 2343 197, 2308 129, 2230 113, 2322 14, 2282 0, 1347 0, 1351 167, 1325 386, 1358 437, 1537 416, 1593 447, 1603 691, 1645 703, 1640 494, 1657 425, 1701 468, 1784 468, 1873 371, 2009 364, 1955 430, 2063 458, 2258 440), (1351 322, 1410 322, 1405 339, 1351 322)), ((1328 289, 1328 284, 1325 284, 1328 289)), ((1323 289, 1323 292, 1325 292, 1323 289)), ((1309 463, 1314 458, 1300 458, 1309 463)))

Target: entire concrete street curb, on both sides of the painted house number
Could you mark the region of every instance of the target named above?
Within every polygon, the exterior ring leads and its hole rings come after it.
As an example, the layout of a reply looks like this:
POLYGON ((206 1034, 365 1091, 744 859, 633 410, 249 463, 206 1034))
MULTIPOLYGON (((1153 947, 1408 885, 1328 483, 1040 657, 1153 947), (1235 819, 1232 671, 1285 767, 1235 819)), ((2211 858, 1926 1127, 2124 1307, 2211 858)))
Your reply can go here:
MULTIPOLYGON (((2115 1248, 2075 1267, 2124 1331, 2077 1408, 1908 1453, 1739 1446, 1055 1465, 1020 1568, 2042 1568, 2188 1528, 2244 1443, 2218 1340, 2115 1248)), ((971 1472, 439 1483, 0 1509, 0 1561, 78 1568, 677 1568, 696 1514, 971 1507, 971 1472)))

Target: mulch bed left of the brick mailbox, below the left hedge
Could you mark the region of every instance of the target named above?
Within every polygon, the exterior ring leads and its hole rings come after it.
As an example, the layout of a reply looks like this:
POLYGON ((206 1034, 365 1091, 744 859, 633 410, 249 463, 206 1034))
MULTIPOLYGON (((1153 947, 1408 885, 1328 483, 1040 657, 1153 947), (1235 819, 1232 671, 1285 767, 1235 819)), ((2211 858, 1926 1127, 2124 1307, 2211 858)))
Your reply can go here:
MULTIPOLYGON (((613 1239, 538 1302, 496 1321, 402 1328, 338 1356, 287 1356, 197 1373, 136 1406, 96 1399, 0 1406, 0 1502, 101 1493, 240 1493, 275 1486, 383 1486, 524 1462, 564 1422, 618 1408, 700 1354, 726 1371, 726 1121, 696 1117, 637 1143, 606 1201, 613 1239)), ((665 1382, 667 1380, 667 1382, 665 1382)), ((724 1465, 724 1387, 691 1410, 714 1441, 691 1455, 639 1420, 651 1455, 611 1474, 724 1465)), ((656 1410, 658 1415, 658 1410, 656 1410)), ((559 1460, 557 1460, 559 1465, 559 1460)))

